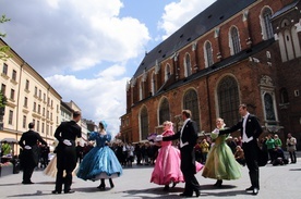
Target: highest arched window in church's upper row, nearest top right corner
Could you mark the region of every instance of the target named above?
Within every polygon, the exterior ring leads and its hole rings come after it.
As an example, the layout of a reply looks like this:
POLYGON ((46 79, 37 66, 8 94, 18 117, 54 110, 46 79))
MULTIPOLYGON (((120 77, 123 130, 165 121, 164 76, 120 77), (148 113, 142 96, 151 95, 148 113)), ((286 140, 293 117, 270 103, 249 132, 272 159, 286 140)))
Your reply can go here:
POLYGON ((272 10, 269 8, 265 8, 262 11, 262 32, 263 32, 263 39, 270 39, 274 37, 273 26, 270 23, 272 17, 272 10))

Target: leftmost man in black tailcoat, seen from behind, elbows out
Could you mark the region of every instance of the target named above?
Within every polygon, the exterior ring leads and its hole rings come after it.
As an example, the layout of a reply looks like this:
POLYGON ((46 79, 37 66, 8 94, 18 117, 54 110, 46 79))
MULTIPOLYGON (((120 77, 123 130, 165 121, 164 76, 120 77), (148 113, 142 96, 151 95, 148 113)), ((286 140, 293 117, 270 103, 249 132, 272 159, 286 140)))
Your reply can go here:
POLYGON ((38 141, 47 146, 47 142, 40 137, 40 135, 34 132, 35 124, 28 124, 28 132, 22 134, 19 145, 22 147, 21 165, 23 167, 23 182, 24 185, 34 184, 32 182, 32 175, 35 167, 38 164, 39 149, 38 141))

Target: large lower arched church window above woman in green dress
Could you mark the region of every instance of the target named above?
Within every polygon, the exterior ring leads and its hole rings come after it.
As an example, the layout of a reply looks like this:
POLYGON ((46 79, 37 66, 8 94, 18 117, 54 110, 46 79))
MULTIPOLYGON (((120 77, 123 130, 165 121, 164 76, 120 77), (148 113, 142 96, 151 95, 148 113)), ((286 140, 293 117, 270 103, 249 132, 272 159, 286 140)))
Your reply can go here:
POLYGON ((239 120, 239 90, 233 77, 224 77, 217 87, 217 99, 219 116, 224 119, 227 126, 232 126, 239 120))

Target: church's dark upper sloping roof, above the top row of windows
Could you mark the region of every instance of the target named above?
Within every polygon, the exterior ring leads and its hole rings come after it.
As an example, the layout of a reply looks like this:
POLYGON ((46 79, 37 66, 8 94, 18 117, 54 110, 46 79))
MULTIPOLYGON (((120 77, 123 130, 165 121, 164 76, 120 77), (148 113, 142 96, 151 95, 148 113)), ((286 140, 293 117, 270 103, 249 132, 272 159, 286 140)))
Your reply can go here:
POLYGON ((191 43, 208 30, 218 26, 238 12, 254 3, 256 0, 217 0, 190 22, 183 25, 174 34, 146 53, 134 77, 155 66, 156 61, 161 62, 174 52, 191 43))

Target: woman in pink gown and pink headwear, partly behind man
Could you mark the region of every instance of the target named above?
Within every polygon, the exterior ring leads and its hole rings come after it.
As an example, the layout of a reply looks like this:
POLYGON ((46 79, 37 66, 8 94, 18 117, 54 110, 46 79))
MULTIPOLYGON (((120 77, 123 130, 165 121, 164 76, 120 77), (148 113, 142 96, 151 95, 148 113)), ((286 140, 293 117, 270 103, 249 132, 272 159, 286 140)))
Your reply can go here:
MULTIPOLYGON (((169 121, 164 122, 162 136, 173 135, 172 123, 169 121)), ((181 156, 180 150, 173 147, 172 141, 161 141, 158 157, 156 159, 155 167, 152 173, 150 183, 165 185, 164 190, 169 189, 169 184, 184 183, 184 176, 181 172, 181 156)), ((203 165, 196 162, 196 172, 203 169, 203 165)))

